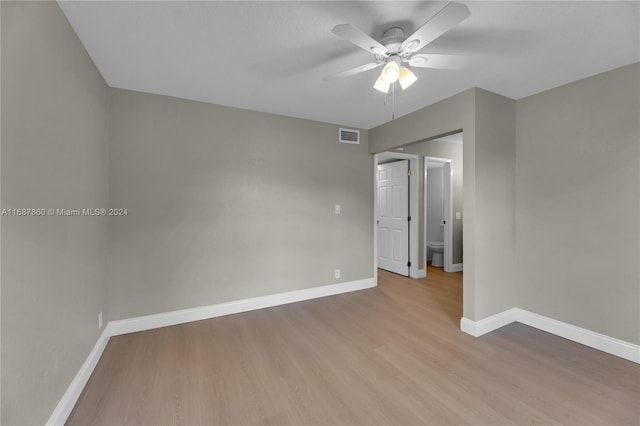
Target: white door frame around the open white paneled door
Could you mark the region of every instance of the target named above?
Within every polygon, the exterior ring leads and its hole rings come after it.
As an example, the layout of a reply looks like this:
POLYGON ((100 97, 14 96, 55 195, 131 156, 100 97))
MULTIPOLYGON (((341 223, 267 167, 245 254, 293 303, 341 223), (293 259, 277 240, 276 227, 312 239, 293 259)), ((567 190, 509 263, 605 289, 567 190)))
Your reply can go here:
POLYGON ((373 156, 373 277, 378 282, 378 163, 387 160, 409 160, 411 176, 409 177, 409 277, 422 278, 424 272, 418 270, 418 236, 419 236, 419 210, 418 210, 418 162, 417 154, 404 154, 401 152, 381 152, 373 156))

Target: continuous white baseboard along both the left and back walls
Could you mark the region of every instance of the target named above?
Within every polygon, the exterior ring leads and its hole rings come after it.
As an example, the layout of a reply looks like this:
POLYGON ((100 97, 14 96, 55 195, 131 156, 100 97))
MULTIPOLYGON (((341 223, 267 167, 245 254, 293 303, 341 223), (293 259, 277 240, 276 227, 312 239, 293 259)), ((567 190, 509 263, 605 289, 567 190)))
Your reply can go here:
POLYGON ((335 294, 348 293, 356 290, 364 290, 375 287, 375 278, 367 278, 358 281, 330 284, 320 287, 305 288, 302 290, 288 291, 285 293, 270 294, 267 296, 254 297, 252 299, 236 300, 233 302, 220 303, 217 305, 203 306, 200 308, 183 309, 180 311, 165 312, 156 315, 130 318, 119 321, 110 321, 98 338, 95 346, 89 353, 82 367, 71 381, 66 392, 58 402, 58 405, 51 413, 47 426, 64 425, 73 410, 78 398, 87 384, 91 373, 96 368, 104 348, 111 336, 133 333, 136 331, 150 330, 153 328, 166 327, 170 325, 183 324, 191 321, 199 321, 208 318, 215 318, 224 315, 237 314, 240 312, 253 311, 256 309, 269 308, 272 306, 285 305, 303 300, 317 299, 319 297, 332 296, 335 294))

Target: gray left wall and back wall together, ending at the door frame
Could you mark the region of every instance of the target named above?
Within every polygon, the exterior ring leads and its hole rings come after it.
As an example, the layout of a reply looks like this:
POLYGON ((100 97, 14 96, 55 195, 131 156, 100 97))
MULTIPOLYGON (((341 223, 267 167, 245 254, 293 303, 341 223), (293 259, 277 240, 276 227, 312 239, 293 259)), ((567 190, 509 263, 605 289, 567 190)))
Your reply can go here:
POLYGON ((110 90, 56 3, 1 12, 2 207, 129 210, 3 218, 2 424, 47 420, 100 311, 373 276, 367 131, 339 144, 336 125, 110 90))

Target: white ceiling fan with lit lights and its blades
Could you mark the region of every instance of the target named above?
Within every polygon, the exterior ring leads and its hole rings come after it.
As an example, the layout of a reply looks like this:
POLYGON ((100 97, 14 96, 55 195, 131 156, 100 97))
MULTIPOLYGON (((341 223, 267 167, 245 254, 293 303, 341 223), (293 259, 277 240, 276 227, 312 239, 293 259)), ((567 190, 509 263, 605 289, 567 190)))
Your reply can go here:
POLYGON ((382 39, 379 42, 351 24, 336 25, 331 30, 332 33, 372 53, 375 62, 343 71, 333 77, 348 77, 384 65, 373 88, 388 93, 389 87, 398 81, 404 90, 415 83, 418 77, 403 64, 417 68, 450 68, 450 59, 453 55, 416 54, 416 52, 470 15, 467 6, 448 3, 409 37, 405 36, 402 28, 391 27, 382 33, 382 39))

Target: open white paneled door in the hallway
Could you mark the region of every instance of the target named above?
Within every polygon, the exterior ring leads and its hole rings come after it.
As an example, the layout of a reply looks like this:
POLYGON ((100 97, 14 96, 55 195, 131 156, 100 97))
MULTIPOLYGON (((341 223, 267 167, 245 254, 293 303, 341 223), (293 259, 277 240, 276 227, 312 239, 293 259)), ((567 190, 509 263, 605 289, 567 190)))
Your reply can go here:
POLYGON ((378 165, 378 267, 409 275, 409 161, 378 165))

